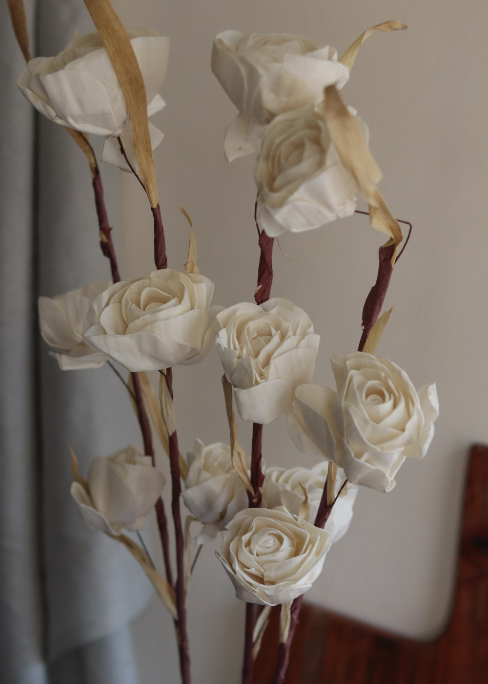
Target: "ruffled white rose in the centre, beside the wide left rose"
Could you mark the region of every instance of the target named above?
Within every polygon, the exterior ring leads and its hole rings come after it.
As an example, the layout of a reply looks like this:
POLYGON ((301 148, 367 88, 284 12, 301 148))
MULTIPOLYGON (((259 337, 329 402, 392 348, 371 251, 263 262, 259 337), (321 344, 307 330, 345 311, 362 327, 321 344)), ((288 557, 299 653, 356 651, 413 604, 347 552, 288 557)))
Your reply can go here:
POLYGON ((271 423, 290 409, 297 386, 312 380, 320 337, 310 318, 292 302, 274 298, 260 306, 234 304, 217 321, 215 343, 239 415, 271 423))

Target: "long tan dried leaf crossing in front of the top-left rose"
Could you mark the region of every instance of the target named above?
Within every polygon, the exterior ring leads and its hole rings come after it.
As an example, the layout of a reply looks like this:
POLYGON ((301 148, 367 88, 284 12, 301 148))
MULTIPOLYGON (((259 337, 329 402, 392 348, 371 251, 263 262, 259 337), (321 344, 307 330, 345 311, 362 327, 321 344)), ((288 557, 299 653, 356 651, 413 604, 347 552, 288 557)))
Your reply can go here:
POLYGON ((146 86, 131 41, 109 0, 84 0, 102 38, 126 98, 139 172, 151 207, 158 205, 156 174, 148 124, 146 86))

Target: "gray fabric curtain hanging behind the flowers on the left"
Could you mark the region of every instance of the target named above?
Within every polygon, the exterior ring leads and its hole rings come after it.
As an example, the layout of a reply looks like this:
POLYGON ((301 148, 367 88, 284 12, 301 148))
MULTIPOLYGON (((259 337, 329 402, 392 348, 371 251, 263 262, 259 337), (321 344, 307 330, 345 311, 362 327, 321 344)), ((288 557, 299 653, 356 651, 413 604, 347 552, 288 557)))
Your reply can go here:
MULTIPOLYGON (((91 29, 81 0, 26 5, 36 55, 91 29)), ((60 371, 36 322, 39 294, 108 279, 109 265, 87 161, 34 116, 16 88, 23 66, 0 0, 0 681, 136 684, 128 622, 152 588, 122 545, 83 525, 68 443, 86 473, 96 454, 140 444, 137 421, 107 365, 60 371)), ((116 170, 102 172, 116 226, 116 170)))

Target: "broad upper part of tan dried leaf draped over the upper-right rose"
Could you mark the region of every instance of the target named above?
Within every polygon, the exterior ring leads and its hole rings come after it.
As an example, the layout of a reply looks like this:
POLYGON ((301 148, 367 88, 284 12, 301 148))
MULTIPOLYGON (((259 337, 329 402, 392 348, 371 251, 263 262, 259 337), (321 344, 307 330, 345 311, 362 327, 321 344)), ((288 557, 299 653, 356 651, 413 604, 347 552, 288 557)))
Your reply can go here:
POLYGON ((375 205, 376 185, 381 181, 381 171, 368 150, 355 118, 342 102, 336 86, 325 88, 323 112, 331 141, 342 161, 342 166, 366 202, 375 205))

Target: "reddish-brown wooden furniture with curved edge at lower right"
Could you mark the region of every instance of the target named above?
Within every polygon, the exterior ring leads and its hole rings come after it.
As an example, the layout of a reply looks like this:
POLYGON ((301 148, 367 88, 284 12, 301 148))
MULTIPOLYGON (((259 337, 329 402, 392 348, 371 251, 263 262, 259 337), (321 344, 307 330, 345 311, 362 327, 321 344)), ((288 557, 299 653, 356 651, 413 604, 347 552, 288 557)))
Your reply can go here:
MULTIPOLYGON (((254 684, 269 684, 279 608, 271 611, 254 684)), ((471 449, 457 587, 445 633, 418 642, 303 604, 286 684, 488 683, 488 447, 471 449)))

